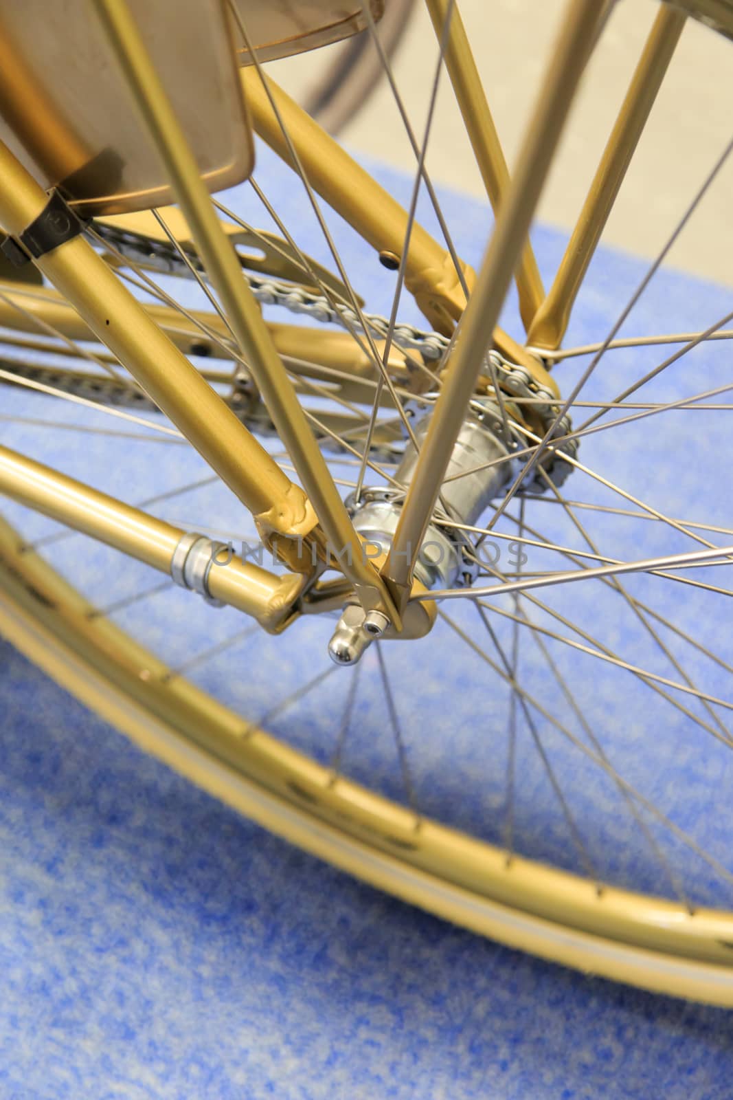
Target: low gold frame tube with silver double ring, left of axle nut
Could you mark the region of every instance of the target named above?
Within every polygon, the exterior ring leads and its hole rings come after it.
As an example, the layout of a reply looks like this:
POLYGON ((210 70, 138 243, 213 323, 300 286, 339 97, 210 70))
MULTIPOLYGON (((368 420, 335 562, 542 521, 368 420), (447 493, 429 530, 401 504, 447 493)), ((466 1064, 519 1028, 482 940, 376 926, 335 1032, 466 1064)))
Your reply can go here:
MULTIPOLYGON (((185 534, 7 447, 0 447, 0 493, 167 574, 185 534)), ((209 573, 215 600, 252 615, 269 630, 290 617, 302 583, 302 576, 277 576, 236 557, 209 573)))

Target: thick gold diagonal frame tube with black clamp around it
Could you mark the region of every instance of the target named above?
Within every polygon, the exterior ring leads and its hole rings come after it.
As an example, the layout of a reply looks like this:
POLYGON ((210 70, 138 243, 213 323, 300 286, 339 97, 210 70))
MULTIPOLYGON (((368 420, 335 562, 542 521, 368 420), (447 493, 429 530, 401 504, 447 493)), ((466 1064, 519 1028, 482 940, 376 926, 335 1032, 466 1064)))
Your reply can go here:
MULTIPOLYGON (((46 201, 45 191, 0 143, 3 228, 20 234, 46 201)), ((251 512, 290 498, 289 479, 84 237, 46 253, 36 265, 251 512)))

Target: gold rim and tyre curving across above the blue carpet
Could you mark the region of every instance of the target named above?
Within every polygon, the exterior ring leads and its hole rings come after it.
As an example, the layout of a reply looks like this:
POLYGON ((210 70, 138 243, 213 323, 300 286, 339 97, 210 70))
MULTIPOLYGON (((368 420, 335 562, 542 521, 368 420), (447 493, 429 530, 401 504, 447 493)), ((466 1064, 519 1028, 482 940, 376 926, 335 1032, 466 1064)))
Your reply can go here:
POLYGON ((143 749, 280 836, 512 947, 733 1004, 733 915, 592 882, 414 815, 247 724, 101 616, 0 524, 0 628, 143 749))

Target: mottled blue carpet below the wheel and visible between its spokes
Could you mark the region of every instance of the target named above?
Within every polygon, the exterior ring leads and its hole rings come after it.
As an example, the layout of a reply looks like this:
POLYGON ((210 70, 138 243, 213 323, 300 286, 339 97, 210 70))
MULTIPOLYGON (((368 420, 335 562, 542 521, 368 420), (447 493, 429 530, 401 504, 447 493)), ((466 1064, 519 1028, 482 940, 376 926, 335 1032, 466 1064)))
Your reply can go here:
MULTIPOLYGON (((260 163, 260 183, 275 198, 281 197, 288 186, 282 173, 266 155, 260 163)), ((381 176, 408 200, 407 179, 386 170, 381 176)), ((459 251, 478 262, 486 210, 463 196, 443 198, 459 251)), ((246 210, 252 221, 266 223, 247 191, 237 190, 227 201, 246 210)), ((327 262, 297 191, 290 210, 303 246, 327 262)), ((424 221, 431 223, 427 211, 424 221)), ((333 222, 341 231, 338 220, 333 222)), ((348 232, 340 240, 368 307, 387 311, 392 276, 348 232)), ((563 244, 559 233, 537 231, 545 273, 553 270, 563 244)), ((601 252, 569 341, 598 339, 643 272, 643 263, 634 257, 601 252)), ((624 331, 703 328, 731 308, 729 290, 665 271, 624 331)), ((513 312, 510 302, 508 324, 513 312)), ((419 320, 407 300, 402 315, 419 320)), ((612 397, 660 358, 658 350, 609 355, 588 396, 612 397)), ((695 353, 684 369, 673 369, 647 386, 644 396, 671 400, 721 385, 730 377, 728 359, 722 343, 695 353), (692 364, 698 367, 695 376, 692 364)), ((566 392, 586 363, 558 369, 566 392)), ((3 413, 84 421, 77 410, 56 409, 51 399, 0 392, 0 400, 3 413)), ((729 436, 724 414, 681 416, 666 414, 617 433, 601 432, 585 441, 581 458, 670 515, 730 524, 730 490, 721 461, 729 436), (691 436, 690 420, 699 425, 691 436), (702 468, 710 471, 704 499, 698 495, 702 468)), ((99 417, 93 422, 104 424, 99 417)), ((41 459, 53 455, 69 473, 130 501, 202 476, 201 463, 176 447, 121 440, 110 452, 109 443, 95 437, 69 431, 59 444, 57 433, 22 425, 4 425, 2 438, 41 459)), ((623 505, 580 476, 574 475, 567 490, 589 503, 623 505)), ((527 510, 530 522, 566 544, 582 544, 558 508, 537 504, 534 509, 527 510)), ((31 536, 55 529, 20 508, 3 510, 31 536)), ((252 530, 230 499, 214 494, 206 502, 173 501, 159 514, 200 529, 225 527, 243 535, 252 530)), ((659 534, 653 522, 591 513, 588 517, 593 537, 613 539, 619 558, 673 552, 688 544, 675 532, 671 538, 668 530, 659 534)), ((71 573, 79 550, 74 539, 59 542, 54 561, 71 573)), ((531 560, 526 568, 546 568, 540 552, 531 560)), ((99 550, 85 561, 87 591, 100 602, 155 583, 142 566, 120 570, 111 551, 99 550)), ((718 604, 707 604, 703 594, 680 585, 669 594, 665 588, 660 600, 658 587, 645 587, 653 579, 635 583, 636 595, 646 598, 653 591, 655 606, 667 615, 674 612, 675 622, 686 629, 704 623, 720 651, 729 661, 733 658, 729 624, 713 618, 718 604)), ((585 614, 586 628, 623 648, 630 659, 675 676, 664 661, 649 663, 655 658, 628 614, 618 609, 618 597, 614 603, 599 587, 593 600, 588 617, 587 606, 569 590, 562 601, 547 597, 570 618, 580 622, 585 614)), ((184 627, 190 608, 186 594, 176 592, 152 598, 144 614, 131 607, 119 620, 175 663, 186 657, 184 627)), ((465 613, 455 614, 460 619, 465 613)), ((206 624, 212 642, 241 626, 229 610, 208 613, 206 624)), ((497 630, 507 641, 509 627, 499 623, 497 630)), ((298 625, 291 645, 278 648, 273 639, 244 642, 230 654, 233 664, 204 666, 196 679, 257 717, 267 708, 275 676, 278 684, 296 684, 322 667, 326 637, 327 625, 298 625)), ((411 704, 412 722, 404 723, 415 787, 426 813, 497 838, 504 820, 507 692, 481 672, 480 662, 471 664, 451 645, 445 629, 435 638, 433 648, 421 644, 419 697, 411 704), (477 694, 479 674, 484 686, 477 694), (448 694, 451 685, 456 691, 448 694), (477 738, 476 730, 486 736, 477 738)), ((403 653, 397 646, 396 675, 400 662, 407 670, 414 652, 403 653)), ((553 653, 568 675, 576 674, 577 698, 606 747, 618 751, 620 760, 632 760, 629 778, 664 803, 678 824, 695 827, 696 837, 725 859, 733 783, 728 758, 709 754, 706 735, 677 708, 658 712, 664 717, 660 727, 652 708, 656 696, 633 678, 590 659, 584 664, 563 647, 553 653), (722 810, 710 814, 713 788, 722 810)), ((689 653, 686 659, 691 661, 689 653)), ((535 690, 560 706, 531 644, 523 646, 521 660, 523 671, 534 676, 535 690)), ((704 679, 713 694, 730 698, 728 673, 708 668, 699 654, 696 661, 687 664, 695 676, 704 679)), ((373 663, 365 664, 367 673, 374 672, 373 663)), ((279 716, 274 728, 329 759, 347 675, 338 673, 329 681, 325 703, 323 695, 307 696, 297 722, 279 716)), ((374 683, 366 676, 365 682, 374 683)), ((381 740, 378 736, 385 728, 382 704, 379 692, 367 686, 359 698, 359 725, 374 728, 375 738, 358 752, 349 746, 347 770, 400 798, 393 746, 384 733, 381 740)), ((689 705, 703 714, 696 703, 689 705)), ((517 795, 518 846, 576 867, 578 854, 531 752, 526 729, 522 738, 526 754, 517 795)), ((648 851, 621 824, 621 814, 614 815, 612 785, 587 774, 576 756, 555 736, 553 761, 574 783, 574 806, 603 873, 668 891, 648 851)), ((687 860, 685 871, 696 897, 730 904, 706 865, 700 867, 674 846, 673 853, 687 860)), ((499 947, 273 838, 143 756, 0 641, 3 1100, 714 1100, 732 1094, 731 1043, 731 1018, 723 1011, 589 979, 499 947)))

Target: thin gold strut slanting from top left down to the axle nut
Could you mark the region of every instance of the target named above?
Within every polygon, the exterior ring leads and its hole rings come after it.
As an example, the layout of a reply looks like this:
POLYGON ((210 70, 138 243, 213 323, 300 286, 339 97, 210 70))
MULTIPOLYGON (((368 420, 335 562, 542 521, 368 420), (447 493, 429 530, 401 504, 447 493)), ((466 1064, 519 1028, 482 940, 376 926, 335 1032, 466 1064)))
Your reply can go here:
MULTIPOLYGON (((302 492, 292 486, 291 495, 298 495, 299 505, 304 501, 309 513, 297 527, 289 515, 284 525, 278 501, 271 502, 271 507, 262 509, 263 514, 257 516, 258 524, 265 531, 308 535, 318 517, 332 548, 338 553, 348 551, 343 554, 342 570, 353 582, 365 606, 384 605, 389 609, 390 618, 395 618, 396 608, 377 571, 362 552, 358 536, 273 344, 259 306, 242 273, 232 242, 216 217, 196 160, 127 4, 125 0, 95 0, 95 7, 151 138, 166 165, 207 274, 221 298, 277 432, 310 498, 304 498, 302 492)), ((399 616, 397 618, 399 620, 399 616)))

